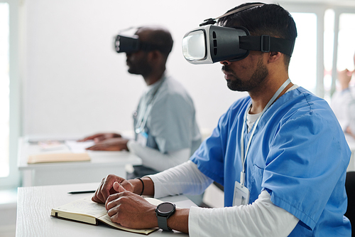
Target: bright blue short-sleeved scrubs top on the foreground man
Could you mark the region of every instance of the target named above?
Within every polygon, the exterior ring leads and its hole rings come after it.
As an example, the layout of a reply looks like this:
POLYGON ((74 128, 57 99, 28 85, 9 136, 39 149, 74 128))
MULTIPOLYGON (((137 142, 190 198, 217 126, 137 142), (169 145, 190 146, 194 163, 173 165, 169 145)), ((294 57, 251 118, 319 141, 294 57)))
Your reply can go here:
MULTIPOLYGON (((234 102, 211 137, 191 157, 207 177, 224 185, 224 205, 232 206, 240 181, 240 139, 251 98, 234 102)), ((244 131, 244 150, 251 132, 244 131)), ((256 127, 246 158, 250 204, 266 189, 271 201, 300 219, 290 236, 351 236, 343 215, 350 149, 327 102, 304 88, 282 95, 256 127)))

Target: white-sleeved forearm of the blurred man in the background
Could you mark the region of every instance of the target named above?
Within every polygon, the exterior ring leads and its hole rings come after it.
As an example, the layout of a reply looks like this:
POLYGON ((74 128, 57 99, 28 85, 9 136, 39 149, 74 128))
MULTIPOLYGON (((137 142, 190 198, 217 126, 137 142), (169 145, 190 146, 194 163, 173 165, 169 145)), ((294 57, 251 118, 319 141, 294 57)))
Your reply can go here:
POLYGON ((171 167, 177 166, 178 164, 186 162, 189 159, 191 153, 191 149, 186 148, 163 154, 157 149, 143 147, 141 144, 138 144, 138 142, 133 140, 130 140, 127 143, 127 147, 129 148, 130 152, 136 154, 138 157, 141 157, 142 164, 145 167, 155 169, 158 172, 162 172, 165 169, 169 169, 171 167))

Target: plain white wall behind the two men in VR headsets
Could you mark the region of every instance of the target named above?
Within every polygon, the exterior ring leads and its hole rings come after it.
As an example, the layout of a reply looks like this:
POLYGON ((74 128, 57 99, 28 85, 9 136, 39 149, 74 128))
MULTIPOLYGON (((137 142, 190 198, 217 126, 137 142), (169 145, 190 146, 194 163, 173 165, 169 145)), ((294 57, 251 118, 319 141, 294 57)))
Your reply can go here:
POLYGON ((212 129, 231 103, 246 95, 226 88, 221 65, 182 57, 184 34, 243 1, 23 1, 23 135, 86 135, 132 129, 145 88, 126 72, 113 36, 130 26, 160 24, 175 40, 168 71, 195 101, 201 128, 212 129))

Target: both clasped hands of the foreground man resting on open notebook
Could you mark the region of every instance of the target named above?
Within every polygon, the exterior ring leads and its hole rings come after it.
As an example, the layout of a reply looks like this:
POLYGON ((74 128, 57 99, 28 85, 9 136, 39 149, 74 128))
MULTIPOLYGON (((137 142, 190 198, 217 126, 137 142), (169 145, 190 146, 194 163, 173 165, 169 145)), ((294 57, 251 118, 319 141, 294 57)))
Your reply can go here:
POLYGON ((105 204, 111 221, 121 226, 137 229, 157 227, 155 206, 138 195, 142 188, 138 179, 126 180, 109 174, 102 179, 92 201, 105 204))

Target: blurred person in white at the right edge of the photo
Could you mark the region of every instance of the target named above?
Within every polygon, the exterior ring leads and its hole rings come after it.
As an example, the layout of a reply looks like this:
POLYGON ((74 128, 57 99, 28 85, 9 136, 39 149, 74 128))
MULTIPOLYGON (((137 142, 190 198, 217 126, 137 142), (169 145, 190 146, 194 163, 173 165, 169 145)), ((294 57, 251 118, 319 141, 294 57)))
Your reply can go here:
POLYGON ((342 130, 355 138, 355 91, 350 86, 353 74, 354 71, 348 69, 338 73, 337 79, 340 84, 340 90, 332 96, 331 107, 342 126, 342 130))

